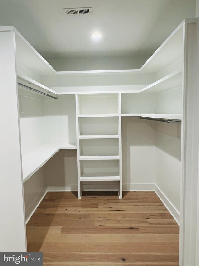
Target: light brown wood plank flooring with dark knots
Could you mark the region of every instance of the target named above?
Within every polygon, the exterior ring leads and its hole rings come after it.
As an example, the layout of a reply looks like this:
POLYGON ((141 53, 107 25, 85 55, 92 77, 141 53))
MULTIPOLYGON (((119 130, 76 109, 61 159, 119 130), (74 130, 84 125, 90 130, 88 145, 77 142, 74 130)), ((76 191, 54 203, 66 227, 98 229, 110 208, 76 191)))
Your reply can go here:
POLYGON ((178 265, 179 226, 153 191, 48 192, 26 226, 44 265, 178 265))

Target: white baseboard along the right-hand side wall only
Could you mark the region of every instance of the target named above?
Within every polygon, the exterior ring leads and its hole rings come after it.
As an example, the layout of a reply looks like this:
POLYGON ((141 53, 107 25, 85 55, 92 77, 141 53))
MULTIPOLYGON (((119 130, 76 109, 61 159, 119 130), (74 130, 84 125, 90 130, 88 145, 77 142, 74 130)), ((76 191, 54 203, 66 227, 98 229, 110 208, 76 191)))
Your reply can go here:
POLYGON ((172 202, 169 201, 169 199, 161 191, 161 189, 156 184, 154 184, 154 185, 155 185, 155 190, 154 190, 155 193, 160 198, 160 200, 162 201, 162 203, 164 204, 164 206, 167 208, 167 210, 170 212, 170 214, 173 216, 173 218, 177 222, 177 224, 180 225, 180 213, 179 213, 179 211, 176 210, 176 208, 174 207, 174 205, 172 204, 172 202))

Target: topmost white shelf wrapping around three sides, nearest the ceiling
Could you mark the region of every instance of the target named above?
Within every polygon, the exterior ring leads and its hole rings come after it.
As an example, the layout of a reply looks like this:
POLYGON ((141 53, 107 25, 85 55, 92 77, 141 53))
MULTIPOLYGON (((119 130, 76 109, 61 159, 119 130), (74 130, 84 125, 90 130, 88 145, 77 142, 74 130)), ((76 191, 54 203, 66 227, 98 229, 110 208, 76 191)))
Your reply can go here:
POLYGON ((14 30, 16 33, 16 58, 17 64, 30 71, 37 71, 41 75, 60 75, 60 74, 93 74, 93 73, 124 73, 127 72, 156 72, 174 62, 183 54, 183 21, 154 52, 140 69, 123 70, 82 70, 82 71, 56 71, 51 65, 25 40, 25 38, 14 27, 1 27, 0 31, 14 30), (31 63, 30 63, 31 62, 31 63))

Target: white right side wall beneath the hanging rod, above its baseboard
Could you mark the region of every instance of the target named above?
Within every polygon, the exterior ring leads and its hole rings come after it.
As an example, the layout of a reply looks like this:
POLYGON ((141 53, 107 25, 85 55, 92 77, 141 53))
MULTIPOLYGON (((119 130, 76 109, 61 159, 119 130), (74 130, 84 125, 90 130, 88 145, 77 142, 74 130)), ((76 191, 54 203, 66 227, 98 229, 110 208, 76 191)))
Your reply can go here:
POLYGON ((155 184, 179 213, 181 182, 181 126, 178 124, 163 122, 155 123, 155 184))

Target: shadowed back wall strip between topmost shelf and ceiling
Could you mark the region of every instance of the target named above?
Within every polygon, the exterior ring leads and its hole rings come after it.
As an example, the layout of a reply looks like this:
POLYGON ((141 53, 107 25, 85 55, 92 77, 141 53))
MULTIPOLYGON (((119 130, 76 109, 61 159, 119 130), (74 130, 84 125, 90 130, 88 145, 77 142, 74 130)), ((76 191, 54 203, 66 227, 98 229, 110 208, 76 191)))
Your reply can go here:
POLYGON ((56 71, 139 69, 149 56, 72 57, 48 59, 56 71))

